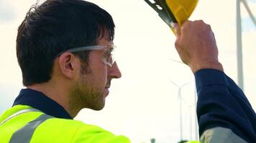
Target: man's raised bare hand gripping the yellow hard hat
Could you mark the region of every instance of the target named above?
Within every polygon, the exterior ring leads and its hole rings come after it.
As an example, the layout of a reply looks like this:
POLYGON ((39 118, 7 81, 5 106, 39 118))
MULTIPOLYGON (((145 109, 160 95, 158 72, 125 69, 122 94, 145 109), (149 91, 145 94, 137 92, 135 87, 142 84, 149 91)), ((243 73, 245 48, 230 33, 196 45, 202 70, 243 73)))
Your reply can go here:
MULTIPOLYGON (((213 31, 204 21, 186 21, 182 26, 173 24, 175 29, 175 48, 180 59, 191 67, 199 69, 220 69, 218 49, 213 31)), ((222 69, 223 70, 223 69, 222 69)))

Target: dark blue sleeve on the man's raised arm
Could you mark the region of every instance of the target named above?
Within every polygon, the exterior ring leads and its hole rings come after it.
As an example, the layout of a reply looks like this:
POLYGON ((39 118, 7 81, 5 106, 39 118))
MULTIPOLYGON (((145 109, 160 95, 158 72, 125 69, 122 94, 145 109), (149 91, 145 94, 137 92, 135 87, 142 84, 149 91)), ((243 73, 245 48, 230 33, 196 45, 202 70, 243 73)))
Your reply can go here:
POLYGON ((196 72, 199 135, 225 127, 247 142, 256 142, 256 114, 241 89, 223 71, 196 72))

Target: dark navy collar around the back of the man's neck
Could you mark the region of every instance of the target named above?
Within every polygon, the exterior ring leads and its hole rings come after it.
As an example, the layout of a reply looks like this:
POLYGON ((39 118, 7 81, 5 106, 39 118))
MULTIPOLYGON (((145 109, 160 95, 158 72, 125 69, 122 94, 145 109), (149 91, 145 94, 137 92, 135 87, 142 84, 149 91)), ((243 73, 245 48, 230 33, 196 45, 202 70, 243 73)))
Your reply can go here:
POLYGON ((19 92, 19 96, 14 100, 13 106, 17 104, 28 105, 39 109, 41 112, 52 117, 73 119, 60 104, 50 99, 42 92, 37 92, 32 89, 22 89, 19 92))

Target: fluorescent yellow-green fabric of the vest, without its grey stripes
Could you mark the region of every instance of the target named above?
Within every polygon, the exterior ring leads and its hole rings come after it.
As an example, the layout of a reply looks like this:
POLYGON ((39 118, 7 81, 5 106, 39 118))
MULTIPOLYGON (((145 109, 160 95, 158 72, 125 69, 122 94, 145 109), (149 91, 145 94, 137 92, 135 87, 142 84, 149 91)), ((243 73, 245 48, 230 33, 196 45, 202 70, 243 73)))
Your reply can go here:
MULTIPOLYGON (((4 112, 0 117, 0 123, 12 114, 19 112, 22 109, 29 109, 29 106, 17 105, 4 112)), ((27 112, 19 114, 4 122, 0 126, 0 141, 7 143, 12 137, 12 134, 18 129, 24 127, 28 122, 39 117, 42 112, 27 112)), ((58 119, 51 118, 40 124, 32 135, 30 143, 45 143, 45 142, 62 142, 62 143, 128 143, 127 137, 116 136, 101 127, 84 124, 73 119, 58 119)))

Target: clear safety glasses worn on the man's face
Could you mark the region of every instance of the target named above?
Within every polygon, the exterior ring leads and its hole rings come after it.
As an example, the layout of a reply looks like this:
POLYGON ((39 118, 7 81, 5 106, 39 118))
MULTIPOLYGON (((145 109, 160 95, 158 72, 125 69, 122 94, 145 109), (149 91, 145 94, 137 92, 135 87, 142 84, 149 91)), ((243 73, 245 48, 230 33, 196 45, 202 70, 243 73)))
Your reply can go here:
POLYGON ((109 45, 109 46, 81 46, 81 47, 78 47, 78 48, 73 48, 73 49, 68 49, 68 50, 65 50, 65 51, 62 51, 60 52, 60 54, 57 54, 57 56, 55 57, 58 57, 60 56, 61 54, 65 53, 65 52, 70 52, 70 53, 73 53, 73 52, 77 52, 77 51, 88 51, 88 50, 102 50, 104 51, 104 56, 102 56, 102 61, 109 65, 109 66, 112 66, 114 64, 114 49, 116 49, 116 46, 114 45, 109 45))

